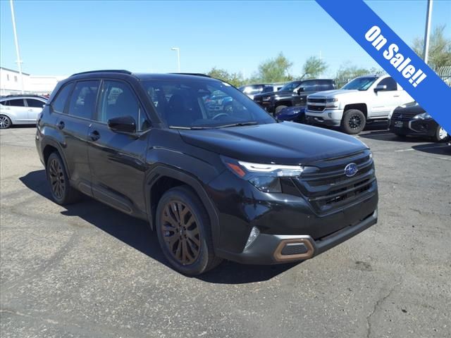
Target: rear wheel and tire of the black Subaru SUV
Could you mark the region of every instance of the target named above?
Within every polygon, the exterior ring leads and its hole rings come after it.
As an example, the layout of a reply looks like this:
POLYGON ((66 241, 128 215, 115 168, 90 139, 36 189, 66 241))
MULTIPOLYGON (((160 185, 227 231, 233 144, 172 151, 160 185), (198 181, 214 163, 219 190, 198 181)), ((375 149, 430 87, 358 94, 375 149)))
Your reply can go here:
POLYGON ((80 200, 82 194, 70 186, 66 167, 58 153, 50 154, 47 159, 46 173, 51 196, 57 204, 63 206, 80 200))

